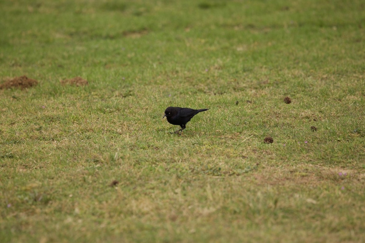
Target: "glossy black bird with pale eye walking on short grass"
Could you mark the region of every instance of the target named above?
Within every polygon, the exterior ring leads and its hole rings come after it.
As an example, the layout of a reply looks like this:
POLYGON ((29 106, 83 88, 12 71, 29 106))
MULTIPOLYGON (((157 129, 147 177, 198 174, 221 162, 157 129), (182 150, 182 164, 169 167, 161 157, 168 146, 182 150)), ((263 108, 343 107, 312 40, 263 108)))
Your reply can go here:
MULTIPOLYGON (((198 114, 201 111, 206 111, 209 109, 200 109, 200 110, 194 110, 191 108, 181 108, 181 107, 167 107, 165 110, 165 115, 167 121, 171 123, 172 125, 180 125, 181 129, 175 131, 174 133, 181 132, 183 133, 183 130, 186 128, 186 124, 188 121, 190 121, 191 118, 193 118, 194 115, 198 114)), ((162 119, 164 119, 162 117, 162 119)), ((180 135, 181 135, 180 133, 180 135)))

